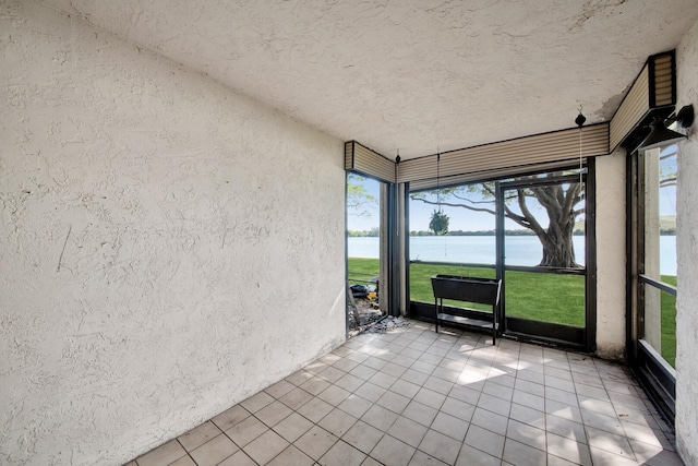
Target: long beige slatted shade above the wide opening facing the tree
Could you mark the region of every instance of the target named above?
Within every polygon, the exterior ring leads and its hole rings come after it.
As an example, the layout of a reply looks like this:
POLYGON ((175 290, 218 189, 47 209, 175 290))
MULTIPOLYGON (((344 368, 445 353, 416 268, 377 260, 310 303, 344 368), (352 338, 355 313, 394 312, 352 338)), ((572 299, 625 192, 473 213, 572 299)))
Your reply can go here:
MULTIPOLYGON (((609 153, 609 124, 581 129, 582 157, 609 153)), ((502 178, 537 169, 569 167, 579 160, 579 129, 537 134, 441 154, 438 184, 502 178)), ((398 182, 410 190, 436 187, 436 154, 401 162, 398 182)))

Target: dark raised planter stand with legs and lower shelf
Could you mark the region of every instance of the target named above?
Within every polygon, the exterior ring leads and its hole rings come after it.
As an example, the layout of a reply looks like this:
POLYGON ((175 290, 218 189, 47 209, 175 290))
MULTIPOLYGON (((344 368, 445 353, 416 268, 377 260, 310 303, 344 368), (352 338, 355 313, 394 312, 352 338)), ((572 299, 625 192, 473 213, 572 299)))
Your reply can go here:
MULTIPOLYGON (((498 330, 497 313, 502 288, 501 279, 434 275, 432 276, 432 288, 434 289, 434 323, 436 333, 438 333, 440 320, 480 328, 492 326, 492 344, 496 344, 498 330), (490 304, 492 306, 492 322, 444 312, 444 299, 490 304)), ((477 311, 474 309, 469 310, 477 311)))

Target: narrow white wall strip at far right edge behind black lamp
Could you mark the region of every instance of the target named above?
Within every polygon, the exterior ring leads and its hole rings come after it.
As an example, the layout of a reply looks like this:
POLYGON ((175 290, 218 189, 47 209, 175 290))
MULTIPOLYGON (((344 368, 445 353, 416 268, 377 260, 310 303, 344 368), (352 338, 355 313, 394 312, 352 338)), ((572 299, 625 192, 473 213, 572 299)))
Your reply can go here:
MULTIPOLYGON (((698 111, 698 23, 676 48, 676 67, 677 108, 698 111)), ((676 198, 676 443, 698 465, 698 121, 678 145, 676 198)))

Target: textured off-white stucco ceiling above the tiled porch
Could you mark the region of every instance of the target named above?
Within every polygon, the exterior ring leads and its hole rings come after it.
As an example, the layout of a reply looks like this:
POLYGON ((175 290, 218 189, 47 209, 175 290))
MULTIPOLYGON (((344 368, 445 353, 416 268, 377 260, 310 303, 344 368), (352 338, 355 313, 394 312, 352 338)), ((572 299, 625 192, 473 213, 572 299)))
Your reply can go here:
POLYGON ((45 0, 394 157, 610 119, 697 0, 45 0))

